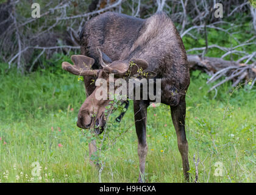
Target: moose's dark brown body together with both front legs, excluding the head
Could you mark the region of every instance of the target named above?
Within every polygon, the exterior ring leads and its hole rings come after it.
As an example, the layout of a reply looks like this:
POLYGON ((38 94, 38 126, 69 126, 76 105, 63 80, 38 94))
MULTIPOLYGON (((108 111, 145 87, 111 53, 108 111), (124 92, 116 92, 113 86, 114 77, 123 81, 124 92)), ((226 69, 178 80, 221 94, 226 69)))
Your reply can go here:
MULTIPOLYGON (((96 16, 85 24, 80 34, 81 54, 95 60, 94 69, 99 69, 99 47, 105 61, 126 64, 131 59, 148 62, 148 71, 156 73, 161 81, 161 101, 171 108, 172 122, 176 129, 178 147, 182 155, 183 172, 188 180, 188 143, 185 135, 185 94, 190 84, 187 54, 182 40, 171 19, 163 12, 155 13, 148 19, 107 12, 96 16), (108 56, 108 57, 107 57, 108 56), (118 60, 118 61, 117 61, 118 60)), ((108 62, 111 63, 111 62, 108 62)), ((105 74, 105 73, 104 73, 105 74)), ((88 98, 83 105, 90 106, 95 86, 92 77, 85 76, 88 98), (91 94, 91 96, 90 96, 91 94)), ((86 106, 80 109, 88 110, 86 106)), ((144 169, 148 146, 146 143, 146 113, 149 101, 134 101, 135 127, 138 135, 138 155, 140 158, 139 182, 144 181, 144 169)), ((81 122, 81 121, 80 121, 81 122)))

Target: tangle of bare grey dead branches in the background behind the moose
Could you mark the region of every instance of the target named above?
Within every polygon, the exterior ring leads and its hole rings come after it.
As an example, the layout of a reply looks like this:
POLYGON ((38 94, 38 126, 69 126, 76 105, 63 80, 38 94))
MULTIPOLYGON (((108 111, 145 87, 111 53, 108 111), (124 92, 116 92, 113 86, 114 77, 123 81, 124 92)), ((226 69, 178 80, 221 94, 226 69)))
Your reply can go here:
MULTIPOLYGON (((16 7, 23 5, 21 1, 9 0, 6 3, 0 4, 0 34, 4 37, 0 40, 1 59, 9 63, 9 68, 11 63, 16 63, 16 67, 24 72, 25 68, 32 71, 43 55, 49 58, 57 50, 65 54, 71 51, 71 49, 75 49, 76 51, 76 49, 79 49, 78 33, 84 26, 85 21, 90 19, 91 16, 101 14, 105 11, 132 13, 133 16, 148 18, 155 11, 163 10, 171 17, 174 23, 180 24, 177 26, 177 29, 181 37, 188 35, 194 40, 197 40, 197 35, 205 33, 208 28, 221 30, 231 37, 234 33, 231 30, 234 27, 238 27, 231 22, 228 23, 221 19, 216 19, 213 16, 214 4, 217 1, 91 0, 90 3, 88 1, 77 2, 68 0, 49 1, 45 7, 41 7, 41 10, 43 10, 43 13, 41 13, 43 23, 40 23, 40 19, 25 18, 22 13, 18 13, 20 7, 19 9, 16 9, 16 7), (4 12, 5 10, 6 12, 4 12), (88 12, 85 13, 84 10, 88 10, 88 12), (192 25, 189 24, 190 20, 188 18, 193 18, 191 21, 192 25), (229 29, 222 29, 218 24, 227 24, 231 27, 229 29), (186 28, 187 26, 188 28, 186 28), (65 32, 62 33, 55 30, 59 27, 62 29, 66 27, 65 30, 62 30, 65 32), (34 49, 41 49, 41 51, 37 54, 34 53, 34 49)), ((227 0, 223 1, 222 4, 224 8, 223 12, 231 18, 234 13, 248 13, 248 17, 252 19, 252 26, 256 30, 256 10, 250 6, 247 0, 227 0), (237 6, 231 6, 230 8, 230 5, 236 4, 237 6)), ((207 42, 207 37, 205 39, 207 42)), ((232 62, 207 57, 201 59, 201 55, 189 55, 188 61, 190 62, 191 70, 201 69, 205 73, 213 76, 207 83, 216 82, 221 77, 229 77, 232 73, 240 73, 230 79, 233 81, 233 85, 244 79, 254 80, 255 65, 250 65, 250 63, 254 63, 256 52, 249 54, 244 49, 241 50, 240 47, 255 44, 255 36, 243 43, 240 43, 240 40, 234 36, 232 36, 232 39, 237 41, 239 45, 226 48, 217 44, 207 44, 207 46, 201 48, 190 48, 187 52, 198 51, 199 53, 205 54, 206 49, 218 48, 224 52, 221 56, 222 59, 224 57, 232 57, 232 54, 238 55, 240 59, 232 62), (244 62, 245 66, 249 67, 243 73, 241 73, 240 69, 241 62, 244 62)))

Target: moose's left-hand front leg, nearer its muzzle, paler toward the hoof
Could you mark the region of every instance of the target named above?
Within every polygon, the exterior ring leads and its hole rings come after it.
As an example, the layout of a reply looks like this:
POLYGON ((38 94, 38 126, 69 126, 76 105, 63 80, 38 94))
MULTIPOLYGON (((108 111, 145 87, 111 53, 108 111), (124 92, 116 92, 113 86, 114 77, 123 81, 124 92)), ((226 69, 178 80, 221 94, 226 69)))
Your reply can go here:
POLYGON ((146 122, 148 105, 149 104, 144 101, 134 101, 133 103, 135 128, 138 137, 138 157, 140 160, 140 176, 138 179, 139 183, 145 181, 144 172, 146 156, 148 153, 148 145, 146 141, 146 122))

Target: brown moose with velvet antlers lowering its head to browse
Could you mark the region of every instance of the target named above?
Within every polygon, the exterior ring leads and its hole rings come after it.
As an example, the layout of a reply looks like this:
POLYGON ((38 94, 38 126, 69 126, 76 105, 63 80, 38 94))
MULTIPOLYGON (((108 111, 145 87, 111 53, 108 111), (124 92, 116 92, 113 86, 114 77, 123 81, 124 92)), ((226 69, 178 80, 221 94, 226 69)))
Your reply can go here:
MULTIPOLYGON (((182 39, 168 15, 157 12, 147 19, 140 19, 121 13, 105 12, 95 16, 87 21, 80 32, 80 53, 81 55, 72 55, 74 65, 62 63, 62 68, 69 73, 84 76, 87 98, 80 107, 77 126, 82 129, 93 128, 96 133, 101 133, 106 124, 104 112, 110 100, 96 98, 98 87, 92 84, 92 79, 103 78, 109 82, 109 74, 113 74, 115 79, 128 79, 142 69, 151 78, 161 79, 161 103, 169 105, 171 109, 183 174, 185 180, 189 181, 185 96, 190 85, 190 71, 182 39), (136 66, 130 67, 131 62, 136 66)), ((138 182, 144 182, 148 152, 146 121, 150 103, 142 98, 133 101, 140 163, 138 182)), ((95 151, 96 146, 90 143, 90 155, 95 151)))

